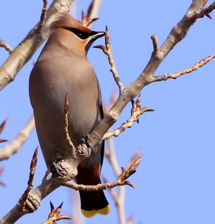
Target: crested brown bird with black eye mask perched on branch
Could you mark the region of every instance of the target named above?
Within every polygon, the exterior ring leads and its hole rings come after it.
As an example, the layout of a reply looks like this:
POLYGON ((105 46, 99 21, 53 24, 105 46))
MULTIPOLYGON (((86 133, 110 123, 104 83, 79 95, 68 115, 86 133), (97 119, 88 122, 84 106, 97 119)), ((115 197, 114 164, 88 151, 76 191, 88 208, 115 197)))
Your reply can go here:
MULTIPOLYGON (((69 97, 69 134, 75 146, 103 118, 102 100, 95 71, 87 59, 91 44, 104 36, 84 27, 70 15, 53 25, 42 53, 30 75, 29 92, 37 135, 48 167, 58 154, 66 158, 71 149, 64 135, 64 100, 69 97)), ((78 166, 78 184, 100 183, 104 144, 78 166)), ((107 214, 110 206, 103 191, 80 192, 86 217, 107 214)))

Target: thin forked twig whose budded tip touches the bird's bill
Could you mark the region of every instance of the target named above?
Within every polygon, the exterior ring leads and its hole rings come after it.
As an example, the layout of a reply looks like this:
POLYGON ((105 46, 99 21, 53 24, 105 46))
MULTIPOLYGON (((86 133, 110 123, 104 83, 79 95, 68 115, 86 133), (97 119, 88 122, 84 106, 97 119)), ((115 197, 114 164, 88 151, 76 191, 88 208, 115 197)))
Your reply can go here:
POLYGON ((109 64, 111 66, 110 71, 113 74, 114 80, 115 80, 116 84, 118 85, 119 91, 121 94, 122 91, 124 90, 124 86, 123 86, 123 83, 121 82, 119 74, 116 70, 116 64, 115 64, 115 61, 114 61, 114 58, 113 58, 113 55, 111 52, 111 42, 110 42, 109 31, 108 31, 107 27, 106 27, 106 31, 105 31, 105 46, 97 45, 97 46, 95 46, 95 48, 101 49, 107 55, 109 64))

